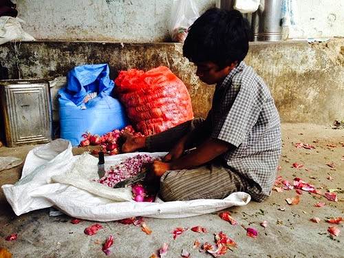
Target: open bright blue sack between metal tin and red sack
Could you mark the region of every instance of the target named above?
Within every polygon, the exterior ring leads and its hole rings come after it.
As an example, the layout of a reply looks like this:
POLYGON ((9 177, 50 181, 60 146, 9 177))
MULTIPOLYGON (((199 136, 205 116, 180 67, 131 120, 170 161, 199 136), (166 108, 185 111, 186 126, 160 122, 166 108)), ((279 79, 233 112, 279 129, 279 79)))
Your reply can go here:
POLYGON ((65 89, 58 91, 61 138, 76 146, 85 132, 102 136, 125 127, 125 109, 110 96, 112 89, 107 64, 80 65, 69 71, 65 89))

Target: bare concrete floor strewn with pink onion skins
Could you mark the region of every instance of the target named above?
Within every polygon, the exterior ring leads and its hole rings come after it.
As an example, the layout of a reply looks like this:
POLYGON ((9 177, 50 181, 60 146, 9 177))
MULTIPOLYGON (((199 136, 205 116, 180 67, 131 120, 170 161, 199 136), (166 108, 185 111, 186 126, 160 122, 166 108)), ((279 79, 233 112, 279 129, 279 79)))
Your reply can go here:
MULTIPOLYGON (((330 126, 309 124, 283 124, 283 153, 279 175, 287 180, 299 177, 314 184, 323 193, 325 189, 344 189, 344 130, 330 126), (313 141, 316 141, 314 143, 313 141), (316 149, 297 149, 294 143, 314 144, 316 149), (342 142, 342 143, 340 143, 342 142), (334 144, 336 147, 329 147, 334 144), (299 162, 309 170, 292 168, 299 162), (326 163, 334 162, 335 170, 326 163), (327 177, 331 176, 332 180, 327 177)), ((31 146, 8 149, 0 148, 0 155, 25 158, 31 146)), ((81 149, 76 149, 80 153, 81 149)), ((19 180, 21 166, 0 172, 0 185, 13 184, 19 180)), ((344 257, 343 225, 325 222, 327 217, 343 217, 344 194, 339 191, 338 202, 330 202, 303 192, 301 202, 289 206, 286 198, 297 195, 294 190, 277 193, 264 203, 250 202, 247 206, 229 208, 238 225, 232 226, 220 219, 217 213, 184 219, 149 219, 145 222, 153 231, 143 233, 138 226, 123 225, 118 222, 100 223, 105 229, 96 235, 87 236, 83 230, 94 222, 83 221, 71 224, 70 217, 61 215, 50 217, 49 209, 33 211, 17 217, 0 192, 0 247, 7 248, 13 257, 105 257, 101 247, 103 241, 114 235, 114 245, 110 257, 149 257, 166 242, 169 250, 165 257, 181 257, 182 249, 191 257, 211 257, 192 248, 195 239, 201 243, 214 243, 213 233, 223 231, 237 242, 237 248, 223 257, 344 257), (325 202, 317 208, 316 202, 325 202), (281 211, 285 209, 284 211, 281 211), (310 222, 319 217, 319 224, 310 222), (259 226, 268 221, 268 226, 259 226), (246 236, 242 226, 250 226, 259 231, 257 238, 246 236), (203 226, 208 233, 194 233, 187 230, 173 240, 172 231, 176 227, 203 226), (338 237, 330 237, 329 226, 341 230, 338 237), (16 241, 5 241, 6 236, 18 233, 16 241)), ((342 222, 343 223, 343 222, 342 222)))

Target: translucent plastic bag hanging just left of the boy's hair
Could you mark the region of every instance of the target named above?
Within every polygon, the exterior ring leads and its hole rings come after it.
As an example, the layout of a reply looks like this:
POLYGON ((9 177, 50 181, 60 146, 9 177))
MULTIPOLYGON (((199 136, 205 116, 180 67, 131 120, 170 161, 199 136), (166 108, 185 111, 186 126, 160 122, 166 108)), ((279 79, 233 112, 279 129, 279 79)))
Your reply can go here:
POLYGON ((189 27, 200 17, 193 0, 173 0, 170 35, 173 42, 184 42, 189 27))

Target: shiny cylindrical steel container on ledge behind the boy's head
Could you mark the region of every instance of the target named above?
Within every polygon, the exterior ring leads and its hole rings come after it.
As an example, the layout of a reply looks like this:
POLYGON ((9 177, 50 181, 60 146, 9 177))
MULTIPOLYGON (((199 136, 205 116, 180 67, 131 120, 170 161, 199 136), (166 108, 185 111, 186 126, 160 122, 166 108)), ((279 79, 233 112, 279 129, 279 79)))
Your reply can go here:
POLYGON ((251 30, 253 41, 280 41, 282 0, 261 0, 259 8, 252 13, 251 30))

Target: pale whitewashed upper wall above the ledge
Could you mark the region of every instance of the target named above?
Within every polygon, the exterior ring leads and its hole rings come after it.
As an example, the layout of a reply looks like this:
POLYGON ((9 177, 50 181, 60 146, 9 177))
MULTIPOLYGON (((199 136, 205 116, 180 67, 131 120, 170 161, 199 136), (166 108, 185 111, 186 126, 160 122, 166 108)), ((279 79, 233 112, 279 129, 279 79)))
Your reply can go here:
MULTIPOLYGON (((194 0, 200 13, 215 0, 194 0)), ((168 42, 171 0, 17 0, 36 39, 168 42)), ((344 36, 343 0, 297 1, 290 38, 344 36)))

